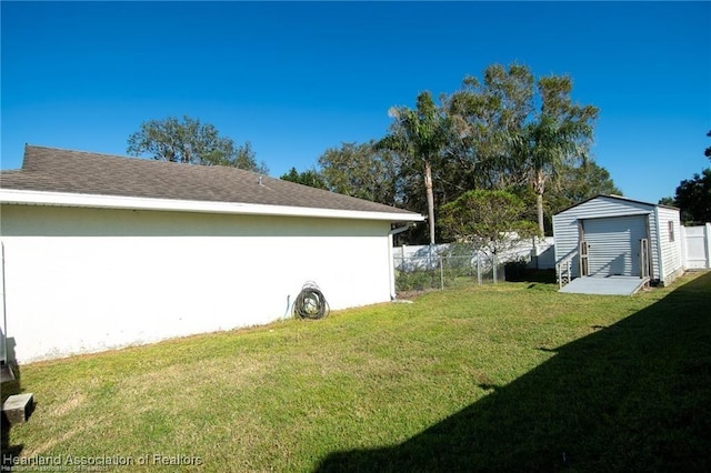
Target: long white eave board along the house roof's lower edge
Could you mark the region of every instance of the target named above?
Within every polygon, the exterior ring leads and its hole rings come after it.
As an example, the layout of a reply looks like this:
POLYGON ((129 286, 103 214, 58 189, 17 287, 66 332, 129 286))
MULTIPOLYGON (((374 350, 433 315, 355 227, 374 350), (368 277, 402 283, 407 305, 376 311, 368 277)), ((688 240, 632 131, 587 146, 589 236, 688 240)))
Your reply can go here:
POLYGON ((242 215, 311 217, 353 220, 382 220, 388 222, 421 222, 418 213, 370 212, 356 210, 319 209, 288 205, 266 205, 239 202, 210 202, 178 199, 151 199, 102 194, 27 191, 0 189, 0 203, 48 207, 79 207, 93 209, 152 210, 163 212, 226 213, 242 215))

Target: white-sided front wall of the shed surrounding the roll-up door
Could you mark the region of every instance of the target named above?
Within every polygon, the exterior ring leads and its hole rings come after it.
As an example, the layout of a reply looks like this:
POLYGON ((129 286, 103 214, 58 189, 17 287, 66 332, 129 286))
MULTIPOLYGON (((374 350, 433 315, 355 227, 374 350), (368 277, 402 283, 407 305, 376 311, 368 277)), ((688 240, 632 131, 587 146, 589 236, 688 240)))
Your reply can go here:
POLYGON ((622 215, 649 215, 650 256, 652 260, 652 278, 660 278, 659 239, 655 232, 657 217, 654 205, 607 197, 598 197, 580 205, 553 215, 553 234, 555 238, 555 262, 574 255, 572 276, 580 276, 579 221, 585 219, 612 218, 622 215))

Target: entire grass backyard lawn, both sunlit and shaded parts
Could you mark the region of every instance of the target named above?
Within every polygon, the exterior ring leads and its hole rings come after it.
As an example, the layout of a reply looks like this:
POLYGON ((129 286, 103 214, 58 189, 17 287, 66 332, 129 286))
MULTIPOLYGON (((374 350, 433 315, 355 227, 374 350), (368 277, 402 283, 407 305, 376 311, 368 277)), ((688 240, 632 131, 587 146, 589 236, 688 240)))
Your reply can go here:
POLYGON ((711 273, 632 298, 555 289, 23 365, 37 409, 3 452, 130 462, 103 471, 711 469, 711 273))

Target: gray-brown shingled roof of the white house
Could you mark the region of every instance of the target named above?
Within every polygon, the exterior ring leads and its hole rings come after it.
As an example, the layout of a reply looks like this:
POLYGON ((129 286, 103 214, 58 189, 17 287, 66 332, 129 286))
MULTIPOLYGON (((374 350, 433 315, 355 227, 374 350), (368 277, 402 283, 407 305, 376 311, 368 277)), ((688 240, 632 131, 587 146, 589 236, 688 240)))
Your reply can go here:
POLYGON ((411 213, 362 199, 226 167, 181 164, 26 145, 22 169, 0 187, 29 191, 411 213))

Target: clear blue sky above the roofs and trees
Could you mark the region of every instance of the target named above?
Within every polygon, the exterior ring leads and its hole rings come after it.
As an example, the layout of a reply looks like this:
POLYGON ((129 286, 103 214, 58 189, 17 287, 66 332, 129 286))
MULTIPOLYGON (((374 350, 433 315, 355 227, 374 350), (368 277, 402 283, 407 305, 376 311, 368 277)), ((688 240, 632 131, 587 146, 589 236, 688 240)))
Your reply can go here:
POLYGON ((514 61, 600 108, 593 152, 625 195, 710 164, 709 2, 0 4, 2 169, 24 143, 126 154, 141 122, 189 115, 279 177, 514 61))

